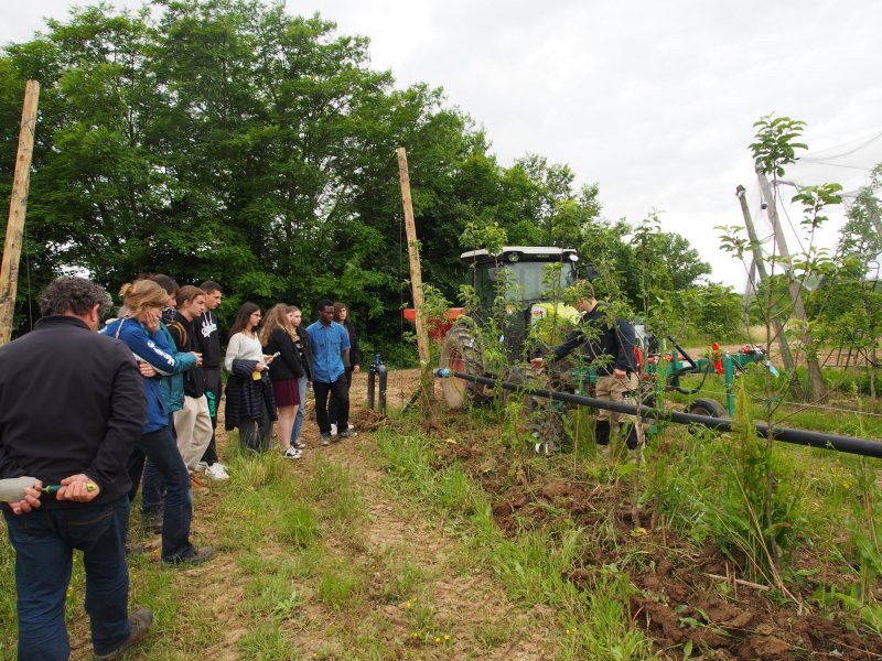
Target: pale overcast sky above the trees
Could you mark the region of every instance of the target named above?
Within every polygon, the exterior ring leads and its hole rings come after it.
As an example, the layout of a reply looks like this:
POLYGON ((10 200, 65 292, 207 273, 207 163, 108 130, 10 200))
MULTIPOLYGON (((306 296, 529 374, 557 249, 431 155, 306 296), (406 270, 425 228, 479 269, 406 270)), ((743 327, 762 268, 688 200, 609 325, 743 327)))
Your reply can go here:
MULTIPOLYGON (((2 0, 0 43, 92 3, 2 0)), ((867 176, 860 167, 882 161, 874 0, 289 0, 288 11, 318 11, 341 33, 368 36, 373 66, 400 86, 443 87, 449 105, 486 129, 502 164, 526 153, 568 163, 580 184, 600 184, 611 219, 656 209, 714 280, 736 289, 744 268, 717 249, 714 226, 742 224, 738 184, 760 215, 754 121, 770 112, 806 121, 813 153, 871 143, 858 170, 808 167, 809 178, 853 188, 867 176)), ((832 247, 835 232, 824 240, 832 247)))

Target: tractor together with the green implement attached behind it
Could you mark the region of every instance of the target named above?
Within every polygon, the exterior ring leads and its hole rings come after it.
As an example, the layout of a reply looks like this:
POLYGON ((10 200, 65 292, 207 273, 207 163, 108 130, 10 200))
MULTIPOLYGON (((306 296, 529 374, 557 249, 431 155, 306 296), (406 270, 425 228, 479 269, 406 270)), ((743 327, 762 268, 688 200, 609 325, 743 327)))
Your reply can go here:
MULTIPOLYGON (((525 365, 525 359, 538 355, 559 344, 570 328, 579 323, 579 312, 562 303, 552 303, 560 293, 579 278, 593 279, 598 273, 590 264, 580 266, 576 250, 567 248, 510 246, 496 254, 487 250, 473 250, 461 256, 463 263, 473 269, 473 282, 478 299, 477 310, 472 316, 462 314, 462 308, 447 311, 445 322, 434 326, 435 334, 443 334, 440 367, 472 377, 486 377, 516 384, 551 388, 552 390, 582 395, 593 395, 596 369, 579 365, 576 356, 560 361, 549 371, 550 381, 539 383, 537 376, 525 365), (559 269, 551 270, 550 264, 559 269), (508 272, 509 286, 505 294, 505 311, 499 323, 497 286, 503 270, 508 272), (552 275, 549 275, 552 274, 552 275), (496 310, 496 323, 492 316, 496 310), (487 339, 486 329, 498 332, 487 339), (553 330, 548 332, 549 328, 553 330), (484 330, 484 332, 481 332, 484 330), (531 330, 534 330, 531 333, 531 330), (494 346, 482 343, 492 342, 494 346), (535 346, 525 350, 526 343, 535 346), (528 356, 528 354, 530 354, 528 356), (495 359, 495 358, 501 359, 495 359)), ((637 333, 636 362, 641 368, 639 388, 634 400, 654 405, 664 397, 666 390, 678 390, 685 394, 696 394, 703 386, 703 378, 717 372, 724 378, 727 407, 713 399, 698 398, 689 404, 689 412, 727 418, 733 415, 734 380, 747 364, 765 361, 765 354, 759 347, 747 346, 739 353, 729 354, 714 345, 712 359, 693 360, 669 338, 675 349, 667 355, 659 351, 655 338, 647 336, 642 324, 635 324, 637 333), (680 379, 689 375, 702 378, 697 388, 688 389, 680 379), (664 378, 660 378, 663 377, 664 378)), ((461 408, 466 401, 481 402, 487 399, 486 386, 451 376, 441 380, 444 400, 452 409, 461 408)), ((503 390, 502 397, 510 397, 503 390)), ((564 447, 568 444, 566 412, 568 405, 559 401, 545 401, 527 395, 529 426, 540 445, 549 448, 564 447)))

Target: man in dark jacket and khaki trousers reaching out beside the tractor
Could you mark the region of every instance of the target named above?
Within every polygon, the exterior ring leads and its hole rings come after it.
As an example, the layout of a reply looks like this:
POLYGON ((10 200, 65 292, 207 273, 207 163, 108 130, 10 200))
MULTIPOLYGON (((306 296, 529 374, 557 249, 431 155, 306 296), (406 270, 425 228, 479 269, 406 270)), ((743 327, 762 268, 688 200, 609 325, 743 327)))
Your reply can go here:
MULTIPOLYGON (((557 347, 549 358, 549 362, 560 360, 582 347, 582 358, 585 364, 593 365, 598 370, 598 384, 595 397, 612 402, 621 402, 625 397, 637 389, 637 369, 634 357, 634 326, 621 317, 616 317, 606 303, 600 302, 594 296, 594 288, 588 281, 578 281, 573 286, 583 292, 576 303, 576 308, 582 313, 579 326, 570 333, 567 339, 557 347)), ((534 358, 530 365, 540 369, 545 365, 542 358, 534 358)), ((617 432, 621 419, 630 422, 627 431, 627 446, 637 447, 637 431, 634 427, 633 415, 623 416, 606 409, 598 412, 594 435, 598 445, 609 446, 610 432, 617 432)))

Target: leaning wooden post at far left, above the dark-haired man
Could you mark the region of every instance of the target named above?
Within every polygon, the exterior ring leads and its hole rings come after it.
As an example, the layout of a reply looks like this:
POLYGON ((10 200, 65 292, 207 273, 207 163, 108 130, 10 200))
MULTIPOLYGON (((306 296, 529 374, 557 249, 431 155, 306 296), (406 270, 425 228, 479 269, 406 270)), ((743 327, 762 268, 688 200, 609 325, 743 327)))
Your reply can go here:
POLYGON ((28 80, 24 87, 24 106, 21 111, 19 151, 15 156, 15 174, 12 177, 12 196, 9 202, 9 221, 3 247, 3 264, 0 268, 0 346, 12 337, 12 321, 15 313, 15 293, 21 261, 21 240, 24 232, 24 214, 28 210, 28 188, 31 183, 31 158, 36 130, 36 101, 40 83, 28 80))

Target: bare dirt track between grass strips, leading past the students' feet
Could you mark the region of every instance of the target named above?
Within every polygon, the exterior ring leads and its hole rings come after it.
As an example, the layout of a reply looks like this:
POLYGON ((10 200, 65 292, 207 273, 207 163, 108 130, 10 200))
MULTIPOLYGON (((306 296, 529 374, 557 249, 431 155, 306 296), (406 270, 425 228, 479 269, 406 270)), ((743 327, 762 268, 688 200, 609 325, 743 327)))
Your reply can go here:
MULTIPOLYGON (((418 379, 418 370, 391 372, 387 382, 388 405, 402 407, 410 399, 418 379)), ((366 375, 357 375, 351 391, 352 420, 356 429, 366 419, 366 375)), ((545 628, 531 626, 536 620, 547 619, 550 614, 519 611, 506 599, 493 577, 469 561, 463 545, 442 530, 441 521, 432 520, 415 503, 384 488, 385 476, 374 457, 373 434, 362 431, 353 440, 323 448, 319 445, 318 427, 310 413, 303 431, 308 449, 300 469, 310 472, 316 460, 329 460, 352 470, 362 500, 369 510, 367 524, 362 531, 361 553, 367 557, 368 564, 380 567, 380 571, 388 571, 389 559, 396 556, 398 560, 391 560, 391 565, 411 564, 423 577, 419 592, 431 603, 433 630, 442 638, 444 635, 451 637, 442 649, 432 649, 429 641, 428 648, 415 647, 408 650, 408 655, 513 660, 551 655, 553 646, 545 637, 545 628)), ((344 541, 331 540, 331 543, 336 543, 344 552, 347 549, 344 541)), ((365 562, 364 557, 361 560, 365 562)), ((375 575, 375 583, 383 583, 385 578, 375 575)), ((420 618, 408 611, 416 609, 417 604, 400 599, 379 607, 388 641, 412 639, 412 629, 420 618)), ((420 631, 419 636, 423 633, 420 631)), ((318 646, 312 640, 308 647, 316 649, 318 646)), ((391 650, 388 652, 391 655, 391 650)))

